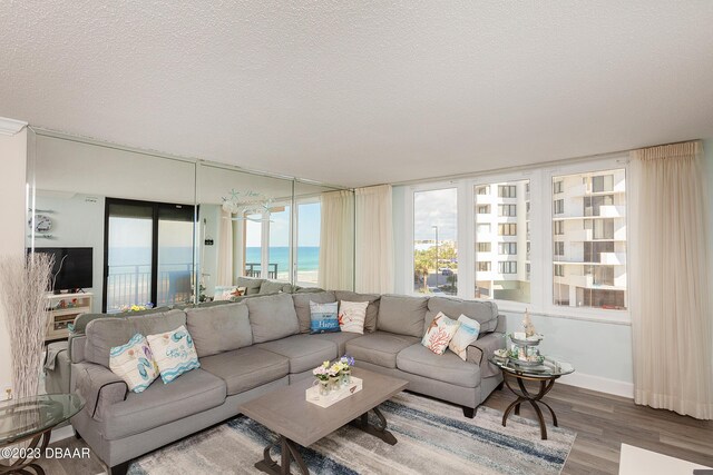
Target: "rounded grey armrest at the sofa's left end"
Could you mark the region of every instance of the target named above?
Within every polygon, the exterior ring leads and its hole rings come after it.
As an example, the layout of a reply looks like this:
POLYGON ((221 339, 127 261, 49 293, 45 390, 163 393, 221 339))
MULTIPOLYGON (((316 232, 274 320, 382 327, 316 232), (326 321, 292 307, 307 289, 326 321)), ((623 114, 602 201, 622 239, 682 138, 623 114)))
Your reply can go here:
POLYGON ((128 386, 111 370, 94 363, 72 365, 77 393, 85 399, 87 414, 100 420, 102 407, 111 406, 126 399, 128 386))

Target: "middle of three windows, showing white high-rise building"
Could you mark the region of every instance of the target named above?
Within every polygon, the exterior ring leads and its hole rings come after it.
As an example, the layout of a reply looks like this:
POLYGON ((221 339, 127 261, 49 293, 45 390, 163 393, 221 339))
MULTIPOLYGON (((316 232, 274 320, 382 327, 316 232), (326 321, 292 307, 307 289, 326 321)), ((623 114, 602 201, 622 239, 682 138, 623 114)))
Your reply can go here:
POLYGON ((495 298, 498 300, 530 301, 529 275, 526 271, 527 256, 518 254, 518 245, 524 249, 529 244, 526 232, 531 210, 529 201, 529 180, 514 180, 475 186, 476 220, 476 288, 477 298, 495 298), (482 194, 479 190, 494 190, 495 194, 482 194), (497 204, 489 214, 479 212, 482 206, 497 204), (518 215, 520 209, 528 212, 518 215), (519 225, 519 226, 518 226, 519 225), (497 235, 481 232, 481 227, 497 229, 497 235), (518 234, 519 231, 519 234, 518 234), (494 271, 491 249, 499 256, 511 256, 512 260, 497 263, 494 271), (518 266, 519 263, 519 266, 518 266))

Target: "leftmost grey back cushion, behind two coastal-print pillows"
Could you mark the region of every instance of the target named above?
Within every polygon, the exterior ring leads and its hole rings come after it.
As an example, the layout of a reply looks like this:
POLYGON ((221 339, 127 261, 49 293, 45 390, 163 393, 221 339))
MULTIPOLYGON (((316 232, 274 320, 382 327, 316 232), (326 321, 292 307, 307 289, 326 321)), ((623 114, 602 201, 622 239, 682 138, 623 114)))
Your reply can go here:
POLYGON ((185 324, 186 313, 183 310, 121 318, 97 318, 87 325, 85 358, 108 368, 109 350, 115 346, 124 345, 137 333, 152 335, 170 331, 185 324))

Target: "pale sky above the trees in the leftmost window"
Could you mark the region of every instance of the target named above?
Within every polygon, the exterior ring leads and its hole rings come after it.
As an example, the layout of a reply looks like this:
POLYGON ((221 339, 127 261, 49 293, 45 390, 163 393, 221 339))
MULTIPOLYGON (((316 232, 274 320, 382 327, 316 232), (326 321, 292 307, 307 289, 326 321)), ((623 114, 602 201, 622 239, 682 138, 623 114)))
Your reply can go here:
POLYGON ((458 190, 417 191, 413 194, 413 239, 456 240, 458 234, 458 190))

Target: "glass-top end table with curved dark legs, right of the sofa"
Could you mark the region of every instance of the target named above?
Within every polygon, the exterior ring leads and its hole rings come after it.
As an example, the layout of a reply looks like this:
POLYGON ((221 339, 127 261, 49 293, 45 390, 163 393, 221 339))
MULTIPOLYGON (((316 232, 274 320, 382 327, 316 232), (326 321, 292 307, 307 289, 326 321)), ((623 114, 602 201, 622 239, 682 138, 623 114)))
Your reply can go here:
POLYGON ((557 416, 555 415, 553 408, 549 407, 549 404, 543 400, 543 397, 545 397, 545 395, 549 393, 549 390, 555 385, 556 379, 558 379, 560 376, 574 373, 574 366, 572 366, 569 363, 547 357, 545 358, 543 364, 536 366, 520 365, 512 359, 498 356, 491 356, 489 360, 500 368, 500 370, 502 372, 502 380, 505 385, 512 392, 512 394, 517 396, 517 399, 508 406, 508 408, 505 410, 505 414, 502 415, 502 426, 505 427, 512 409, 515 409, 515 415, 519 416, 520 404, 530 403, 530 405, 535 409, 535 413, 537 413, 537 418, 539 419, 540 435, 544 441, 547 439, 547 425, 545 424, 545 416, 543 415, 543 410, 539 408, 539 405, 543 405, 549 409, 549 414, 551 414, 553 416, 553 424, 555 425, 555 427, 557 427, 557 416), (511 379, 517 380, 518 388, 514 388, 510 385, 511 379), (525 382, 538 383, 538 392, 530 392, 525 385, 525 382))

